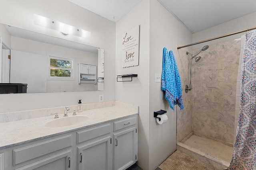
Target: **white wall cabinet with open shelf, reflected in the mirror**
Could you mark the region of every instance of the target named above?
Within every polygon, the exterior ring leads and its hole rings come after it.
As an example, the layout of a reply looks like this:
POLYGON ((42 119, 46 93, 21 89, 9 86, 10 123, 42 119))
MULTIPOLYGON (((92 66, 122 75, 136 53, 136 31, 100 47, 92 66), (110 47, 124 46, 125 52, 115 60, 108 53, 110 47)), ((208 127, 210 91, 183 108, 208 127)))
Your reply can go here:
POLYGON ((96 83, 97 66, 90 64, 78 64, 78 84, 96 83))

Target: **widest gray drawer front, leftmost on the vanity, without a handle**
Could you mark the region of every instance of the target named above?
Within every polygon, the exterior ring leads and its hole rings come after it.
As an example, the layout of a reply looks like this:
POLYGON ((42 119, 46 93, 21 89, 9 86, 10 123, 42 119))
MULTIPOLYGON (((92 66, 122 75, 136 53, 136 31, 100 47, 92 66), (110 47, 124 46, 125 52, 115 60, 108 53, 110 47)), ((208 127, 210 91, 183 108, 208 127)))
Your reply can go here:
POLYGON ((27 147, 13 150, 13 165, 43 156, 60 149, 71 147, 71 135, 36 143, 27 147))

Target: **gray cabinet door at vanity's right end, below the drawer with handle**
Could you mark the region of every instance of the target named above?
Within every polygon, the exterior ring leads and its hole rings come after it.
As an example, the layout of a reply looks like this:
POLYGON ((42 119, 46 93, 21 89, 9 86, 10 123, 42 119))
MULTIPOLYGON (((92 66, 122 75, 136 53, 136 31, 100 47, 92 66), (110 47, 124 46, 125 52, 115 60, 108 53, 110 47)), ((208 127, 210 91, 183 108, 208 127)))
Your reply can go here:
POLYGON ((137 159, 136 127, 114 133, 114 170, 123 170, 137 159))

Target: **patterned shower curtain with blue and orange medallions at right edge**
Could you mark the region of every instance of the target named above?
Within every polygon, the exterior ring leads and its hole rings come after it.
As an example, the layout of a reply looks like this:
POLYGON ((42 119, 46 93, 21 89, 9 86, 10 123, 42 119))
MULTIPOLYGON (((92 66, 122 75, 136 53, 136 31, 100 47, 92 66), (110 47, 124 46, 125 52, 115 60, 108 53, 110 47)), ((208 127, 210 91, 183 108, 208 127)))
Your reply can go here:
POLYGON ((236 142, 228 170, 256 170, 256 30, 245 36, 236 142))

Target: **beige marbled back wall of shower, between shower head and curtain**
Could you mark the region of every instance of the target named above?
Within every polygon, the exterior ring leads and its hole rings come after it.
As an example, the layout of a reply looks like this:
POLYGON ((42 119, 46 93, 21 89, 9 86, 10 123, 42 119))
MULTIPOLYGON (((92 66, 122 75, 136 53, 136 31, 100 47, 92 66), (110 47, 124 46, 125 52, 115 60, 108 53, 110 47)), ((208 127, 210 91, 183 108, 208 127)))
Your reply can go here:
POLYGON ((240 39, 210 45, 200 61, 193 60, 195 133, 233 143, 240 48, 240 39))

